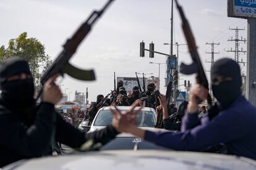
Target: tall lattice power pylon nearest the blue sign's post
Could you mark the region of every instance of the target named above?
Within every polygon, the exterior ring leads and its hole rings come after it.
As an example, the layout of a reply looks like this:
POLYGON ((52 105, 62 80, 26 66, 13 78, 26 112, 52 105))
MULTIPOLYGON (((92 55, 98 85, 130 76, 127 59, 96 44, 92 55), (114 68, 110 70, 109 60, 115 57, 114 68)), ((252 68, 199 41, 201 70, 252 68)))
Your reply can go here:
POLYGON ((243 51, 242 50, 242 48, 241 48, 241 50, 239 50, 239 42, 244 42, 245 43, 245 39, 242 39, 242 36, 241 36, 241 39, 239 39, 238 38, 238 36, 239 36, 239 31, 244 31, 245 29, 239 29, 239 28, 229 28, 229 30, 235 30, 236 31, 236 38, 235 39, 233 39, 233 37, 231 37, 231 39, 228 39, 228 41, 235 41, 235 50, 233 50, 232 48, 231 48, 231 50, 229 50, 229 51, 227 51, 227 52, 234 52, 234 54, 235 54, 235 56, 234 56, 234 60, 237 62, 237 63, 245 63, 245 62, 242 62, 242 60, 240 61, 239 60, 239 53, 240 52, 246 52, 246 51, 243 51))

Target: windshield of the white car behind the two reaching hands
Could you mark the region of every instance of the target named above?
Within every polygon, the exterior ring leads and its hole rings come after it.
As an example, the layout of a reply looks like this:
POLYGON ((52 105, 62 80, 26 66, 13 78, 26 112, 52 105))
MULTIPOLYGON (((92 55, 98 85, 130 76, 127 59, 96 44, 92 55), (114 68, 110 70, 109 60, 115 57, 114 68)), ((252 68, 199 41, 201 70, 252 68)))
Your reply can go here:
MULTIPOLYGON (((108 126, 111 124, 113 115, 110 110, 101 110, 95 118, 93 126, 108 126)), ((153 111, 140 111, 137 115, 139 127, 154 127, 156 119, 153 111)))

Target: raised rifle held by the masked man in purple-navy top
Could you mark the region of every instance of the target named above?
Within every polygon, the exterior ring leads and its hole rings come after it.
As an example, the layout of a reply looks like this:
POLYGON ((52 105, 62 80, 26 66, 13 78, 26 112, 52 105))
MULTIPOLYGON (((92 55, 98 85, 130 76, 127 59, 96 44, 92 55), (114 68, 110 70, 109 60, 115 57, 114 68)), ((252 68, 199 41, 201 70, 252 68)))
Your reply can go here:
MULTIPOLYGON (((189 46, 189 53, 191 55, 191 58, 193 60, 192 64, 190 65, 186 65, 184 63, 181 63, 181 73, 184 75, 192 75, 194 73, 197 73, 197 81, 199 84, 202 84, 205 88, 209 89, 209 84, 207 81, 207 77, 205 76, 205 71, 203 70, 203 65, 201 63, 200 57, 198 55, 197 52, 197 46, 195 44, 195 39, 194 36, 192 34, 192 31, 190 29, 189 26, 189 22, 187 21, 185 14, 182 10, 182 7, 179 6, 177 0, 175 0, 176 5, 177 5, 177 9, 179 10, 179 14, 181 15, 181 20, 182 20, 182 29, 184 32, 184 35, 186 37, 187 40, 187 44, 189 46)), ((198 103, 200 103, 202 101, 200 101, 198 99, 198 103)), ((211 96, 208 92, 208 97, 207 97, 207 103, 208 103, 208 107, 210 108, 212 105, 211 102, 211 96)))

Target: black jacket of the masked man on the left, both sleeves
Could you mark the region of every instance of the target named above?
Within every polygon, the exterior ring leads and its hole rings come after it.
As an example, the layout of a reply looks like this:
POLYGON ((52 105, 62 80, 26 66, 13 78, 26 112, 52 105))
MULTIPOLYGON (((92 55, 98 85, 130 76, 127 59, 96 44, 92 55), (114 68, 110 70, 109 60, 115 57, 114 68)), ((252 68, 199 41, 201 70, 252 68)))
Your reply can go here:
POLYGON ((41 103, 33 113, 31 124, 25 123, 0 100, 0 167, 14 161, 40 157, 51 153, 51 139, 55 131, 57 142, 78 148, 88 139, 106 144, 118 132, 109 125, 100 131, 85 134, 66 123, 51 103, 41 103))

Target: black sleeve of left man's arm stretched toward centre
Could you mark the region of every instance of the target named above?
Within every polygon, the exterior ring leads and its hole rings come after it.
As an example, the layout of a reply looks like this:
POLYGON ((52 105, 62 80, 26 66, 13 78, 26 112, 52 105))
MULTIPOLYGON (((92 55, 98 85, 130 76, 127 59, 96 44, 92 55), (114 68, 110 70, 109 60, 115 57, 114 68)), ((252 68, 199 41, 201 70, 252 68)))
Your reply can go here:
POLYGON ((100 131, 85 133, 66 123, 59 114, 56 125, 56 140, 72 148, 79 148, 88 139, 93 139, 95 143, 100 142, 104 145, 119 134, 112 125, 108 125, 100 131))

